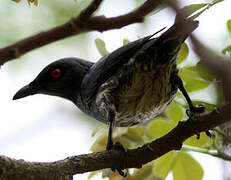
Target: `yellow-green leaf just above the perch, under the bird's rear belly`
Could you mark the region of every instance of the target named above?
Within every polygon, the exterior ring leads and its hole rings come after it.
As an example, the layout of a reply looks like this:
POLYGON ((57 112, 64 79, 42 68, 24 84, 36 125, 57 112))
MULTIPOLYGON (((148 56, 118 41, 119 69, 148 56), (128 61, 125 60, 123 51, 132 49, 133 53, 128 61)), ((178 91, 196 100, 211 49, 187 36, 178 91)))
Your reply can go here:
POLYGON ((164 118, 156 118, 149 123, 148 129, 150 134, 156 139, 167 134, 174 126, 174 123, 164 118))

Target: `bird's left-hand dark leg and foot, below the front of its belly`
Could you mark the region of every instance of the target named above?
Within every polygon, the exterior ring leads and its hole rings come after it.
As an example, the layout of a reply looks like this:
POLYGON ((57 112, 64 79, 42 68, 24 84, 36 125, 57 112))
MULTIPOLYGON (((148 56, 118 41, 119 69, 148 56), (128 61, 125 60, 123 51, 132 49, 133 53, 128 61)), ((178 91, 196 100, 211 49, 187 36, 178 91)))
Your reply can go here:
MULTIPOLYGON (((113 133, 113 127, 114 127, 114 118, 115 118, 115 113, 112 110, 109 110, 109 132, 108 132, 108 139, 107 139, 107 147, 106 149, 109 151, 111 149, 115 149, 115 150, 122 150, 123 152, 125 152, 125 149, 123 148, 123 146, 119 143, 116 142, 115 145, 113 145, 113 141, 112 141, 112 133, 113 133)), ((112 171, 115 171, 115 168, 111 168, 112 171)), ((123 176, 126 177, 127 174, 125 172, 123 172, 122 169, 116 169, 118 171, 118 173, 123 176)))

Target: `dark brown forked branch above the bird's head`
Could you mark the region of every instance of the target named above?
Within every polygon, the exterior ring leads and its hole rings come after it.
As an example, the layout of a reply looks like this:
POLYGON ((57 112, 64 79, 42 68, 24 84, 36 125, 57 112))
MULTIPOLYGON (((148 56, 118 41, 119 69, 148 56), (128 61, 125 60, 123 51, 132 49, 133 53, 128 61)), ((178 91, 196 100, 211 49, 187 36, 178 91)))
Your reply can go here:
POLYGON ((118 17, 106 18, 104 16, 89 17, 98 8, 102 0, 93 1, 80 16, 71 19, 63 25, 34 36, 23 39, 15 44, 0 49, 0 65, 17 58, 35 48, 77 35, 87 31, 106 31, 121 28, 126 25, 141 22, 143 18, 154 10, 162 1, 147 0, 136 10, 118 17))

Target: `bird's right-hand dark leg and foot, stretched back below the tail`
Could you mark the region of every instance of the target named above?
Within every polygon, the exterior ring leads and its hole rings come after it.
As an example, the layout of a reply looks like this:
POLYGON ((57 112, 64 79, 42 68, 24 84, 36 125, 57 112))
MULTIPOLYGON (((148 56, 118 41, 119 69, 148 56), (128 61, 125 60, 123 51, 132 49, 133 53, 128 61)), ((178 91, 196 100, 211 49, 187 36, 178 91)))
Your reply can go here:
MULTIPOLYGON (((203 113, 205 111, 205 107, 203 105, 195 106, 192 103, 192 100, 190 99, 187 91, 184 88, 184 84, 183 84, 182 79, 177 74, 174 75, 174 83, 177 85, 177 87, 179 88, 181 93, 184 95, 184 97, 185 97, 185 99, 186 99, 186 101, 187 101, 187 103, 189 105, 189 110, 186 110, 186 114, 188 115, 188 117, 191 120, 194 120, 195 119, 195 114, 196 113, 203 113)), ((211 137, 211 134, 210 134, 209 131, 205 131, 205 134, 208 137, 211 137)), ((197 134, 197 139, 200 139, 200 134, 197 134)))

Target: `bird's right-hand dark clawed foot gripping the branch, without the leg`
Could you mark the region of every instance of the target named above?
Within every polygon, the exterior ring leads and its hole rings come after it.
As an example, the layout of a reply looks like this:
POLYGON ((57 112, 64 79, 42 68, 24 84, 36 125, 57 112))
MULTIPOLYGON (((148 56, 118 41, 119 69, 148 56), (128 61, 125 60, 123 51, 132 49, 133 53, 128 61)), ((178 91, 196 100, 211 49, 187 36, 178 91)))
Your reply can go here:
MULTIPOLYGON (((188 115, 189 119, 192 121, 196 121, 197 116, 200 115, 201 113, 205 112, 205 106, 202 104, 199 104, 198 106, 193 106, 190 110, 186 110, 186 114, 188 115)), ((211 133, 209 130, 205 131, 205 134, 208 137, 212 137, 211 133)), ((196 134, 197 139, 200 139, 200 133, 196 134)))

